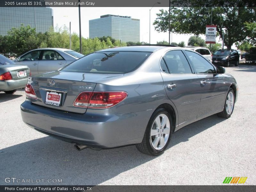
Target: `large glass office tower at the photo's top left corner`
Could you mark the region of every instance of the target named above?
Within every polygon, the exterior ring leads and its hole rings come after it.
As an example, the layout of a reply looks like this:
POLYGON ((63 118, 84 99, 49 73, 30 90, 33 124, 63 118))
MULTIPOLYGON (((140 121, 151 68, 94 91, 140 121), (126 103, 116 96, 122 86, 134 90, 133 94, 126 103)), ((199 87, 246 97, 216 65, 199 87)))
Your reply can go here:
MULTIPOLYGON (((53 10, 46 7, 35 7, 36 32, 46 32, 53 27, 53 10)), ((30 25, 35 28, 34 7, 0 7, 0 35, 7 35, 11 28, 30 25)))

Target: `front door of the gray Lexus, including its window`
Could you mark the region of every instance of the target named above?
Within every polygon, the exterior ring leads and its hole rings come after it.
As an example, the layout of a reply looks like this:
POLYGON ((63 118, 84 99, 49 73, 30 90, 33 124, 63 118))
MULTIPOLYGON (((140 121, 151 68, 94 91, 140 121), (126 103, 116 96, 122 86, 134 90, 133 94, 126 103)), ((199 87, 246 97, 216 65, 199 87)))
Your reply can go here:
POLYGON ((185 53, 200 81, 201 102, 197 117, 220 110, 228 91, 224 76, 217 74, 213 65, 201 55, 187 50, 185 53))

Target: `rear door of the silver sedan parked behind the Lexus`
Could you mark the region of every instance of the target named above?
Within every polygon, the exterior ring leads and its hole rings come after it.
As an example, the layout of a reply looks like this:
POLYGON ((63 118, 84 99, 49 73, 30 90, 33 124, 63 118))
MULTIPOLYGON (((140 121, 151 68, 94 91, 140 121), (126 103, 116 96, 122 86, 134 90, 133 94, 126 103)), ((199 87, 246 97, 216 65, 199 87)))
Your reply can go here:
POLYGON ((66 60, 54 50, 43 50, 38 63, 38 74, 58 70, 65 66, 66 60))

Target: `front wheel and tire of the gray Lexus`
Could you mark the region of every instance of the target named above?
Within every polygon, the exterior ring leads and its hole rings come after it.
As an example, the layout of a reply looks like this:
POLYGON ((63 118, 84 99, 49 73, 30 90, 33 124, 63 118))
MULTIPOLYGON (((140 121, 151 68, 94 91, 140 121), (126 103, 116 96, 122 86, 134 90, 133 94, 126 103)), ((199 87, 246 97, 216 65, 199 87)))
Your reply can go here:
POLYGON ((217 113, 219 117, 229 118, 234 110, 235 106, 235 92, 232 88, 229 88, 228 94, 226 96, 225 105, 223 111, 217 113))

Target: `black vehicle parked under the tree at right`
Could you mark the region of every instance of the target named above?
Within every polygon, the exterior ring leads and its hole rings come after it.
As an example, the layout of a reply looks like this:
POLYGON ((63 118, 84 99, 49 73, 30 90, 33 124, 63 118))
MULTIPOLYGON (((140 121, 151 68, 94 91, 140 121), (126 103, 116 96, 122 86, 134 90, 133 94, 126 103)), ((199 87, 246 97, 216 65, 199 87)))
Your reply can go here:
POLYGON ((229 67, 230 64, 238 66, 239 54, 234 49, 220 49, 213 53, 212 63, 214 65, 225 65, 226 67, 229 67))

